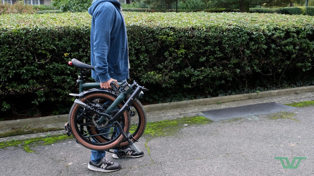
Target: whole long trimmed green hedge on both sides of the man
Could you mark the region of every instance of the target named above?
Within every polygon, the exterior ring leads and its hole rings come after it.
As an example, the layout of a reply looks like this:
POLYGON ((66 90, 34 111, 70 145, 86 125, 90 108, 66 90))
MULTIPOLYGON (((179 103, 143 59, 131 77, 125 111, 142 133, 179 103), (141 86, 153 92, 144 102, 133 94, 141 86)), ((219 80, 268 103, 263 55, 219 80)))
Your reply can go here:
MULTIPOLYGON (((205 12, 125 12, 125 17, 130 77, 149 88, 145 97, 151 101, 180 92, 218 96, 313 75, 313 17, 205 12)), ((19 102, 37 108, 50 101, 71 104, 67 94, 77 92, 77 70, 67 62, 89 62, 90 20, 88 13, 0 16, 3 111, 19 102), (36 98, 12 98, 26 93, 36 98)))

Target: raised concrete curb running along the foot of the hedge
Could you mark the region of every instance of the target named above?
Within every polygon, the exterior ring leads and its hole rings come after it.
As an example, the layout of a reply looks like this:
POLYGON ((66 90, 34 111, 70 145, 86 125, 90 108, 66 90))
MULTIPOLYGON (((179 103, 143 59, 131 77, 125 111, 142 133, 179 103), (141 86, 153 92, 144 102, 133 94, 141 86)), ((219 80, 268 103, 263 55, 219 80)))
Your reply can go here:
MULTIPOLYGON (((274 91, 263 91, 259 93, 219 96, 219 97, 213 97, 213 98, 178 101, 178 102, 171 102, 171 103, 160 103, 160 104, 146 105, 144 106, 144 108, 146 112, 153 112, 153 111, 178 109, 182 107, 211 105, 211 104, 216 104, 218 102, 225 103, 225 102, 232 102, 232 101, 241 101, 241 100, 250 100, 250 99, 256 99, 256 98, 270 97, 270 96, 298 94, 301 92, 312 92, 312 91, 314 91, 314 86, 297 87, 297 88, 274 90, 274 91)), ((21 127, 45 127, 45 128, 63 127, 64 123, 66 122, 68 122, 67 114, 30 118, 30 119, 1 121, 0 132, 6 132, 6 131, 10 131, 12 128, 21 128, 21 127)))

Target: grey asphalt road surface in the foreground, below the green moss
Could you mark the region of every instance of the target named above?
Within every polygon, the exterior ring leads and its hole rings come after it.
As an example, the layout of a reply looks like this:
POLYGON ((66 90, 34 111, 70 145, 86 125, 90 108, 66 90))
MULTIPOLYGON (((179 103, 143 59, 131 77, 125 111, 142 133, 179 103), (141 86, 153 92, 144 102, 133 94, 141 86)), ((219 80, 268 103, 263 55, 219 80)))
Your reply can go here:
POLYGON ((1 175, 314 175, 314 108, 297 108, 293 113, 298 121, 264 115, 186 127, 175 136, 142 137, 137 145, 145 155, 120 160, 110 156, 122 169, 106 174, 88 170, 89 150, 73 140, 35 147, 35 153, 0 149, 1 175), (287 157, 290 163, 294 157, 307 159, 296 169, 284 169, 274 157, 287 157))

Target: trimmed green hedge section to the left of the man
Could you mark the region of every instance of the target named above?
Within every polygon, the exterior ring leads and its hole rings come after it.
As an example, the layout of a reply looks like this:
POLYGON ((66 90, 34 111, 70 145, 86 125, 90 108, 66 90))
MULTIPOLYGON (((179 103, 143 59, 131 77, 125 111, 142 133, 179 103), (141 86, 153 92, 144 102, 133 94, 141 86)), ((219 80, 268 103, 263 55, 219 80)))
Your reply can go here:
POLYGON ((89 60, 89 15, 9 14, 0 18, 2 110, 67 102, 67 94, 75 90, 76 75, 68 60, 89 60))

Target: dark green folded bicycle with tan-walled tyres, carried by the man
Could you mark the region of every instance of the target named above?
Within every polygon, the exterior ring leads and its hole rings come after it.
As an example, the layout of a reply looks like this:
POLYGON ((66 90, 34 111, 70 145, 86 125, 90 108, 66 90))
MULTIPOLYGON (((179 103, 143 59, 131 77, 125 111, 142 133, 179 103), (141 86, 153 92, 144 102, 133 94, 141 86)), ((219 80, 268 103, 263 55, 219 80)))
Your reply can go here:
POLYGON ((65 124, 68 136, 92 150, 105 150, 119 158, 126 156, 124 148, 131 147, 142 136, 147 122, 143 105, 138 101, 147 89, 133 81, 111 82, 112 90, 100 88, 100 83, 85 83, 86 72, 94 66, 72 59, 70 65, 79 69, 79 94, 75 96, 65 124), (113 150, 114 149, 114 150, 113 150))

